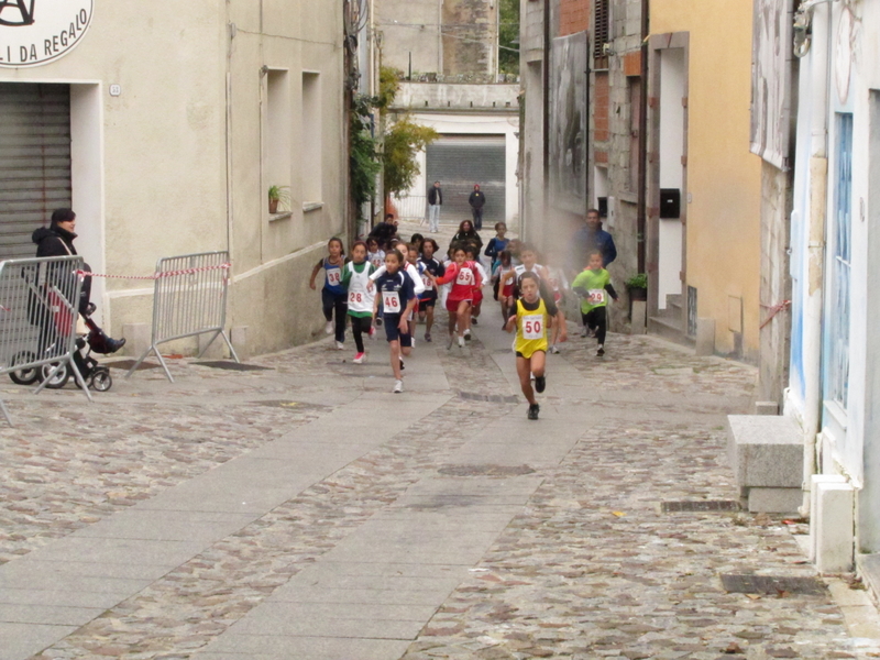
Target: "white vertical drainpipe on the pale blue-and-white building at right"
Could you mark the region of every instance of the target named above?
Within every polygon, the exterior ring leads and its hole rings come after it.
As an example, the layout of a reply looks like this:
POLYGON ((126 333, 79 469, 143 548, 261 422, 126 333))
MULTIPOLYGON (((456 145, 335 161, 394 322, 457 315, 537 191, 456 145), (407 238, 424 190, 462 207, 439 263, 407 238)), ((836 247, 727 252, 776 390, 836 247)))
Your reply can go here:
MULTIPOLYGON (((810 77, 810 211, 807 227, 806 300, 804 307, 804 482, 817 472, 816 439, 822 426, 822 316, 825 275, 825 217, 828 197, 828 97, 831 86, 831 6, 813 9, 810 77)), ((801 69, 803 70, 803 69, 801 69)), ((809 507, 810 495, 804 496, 809 507)))

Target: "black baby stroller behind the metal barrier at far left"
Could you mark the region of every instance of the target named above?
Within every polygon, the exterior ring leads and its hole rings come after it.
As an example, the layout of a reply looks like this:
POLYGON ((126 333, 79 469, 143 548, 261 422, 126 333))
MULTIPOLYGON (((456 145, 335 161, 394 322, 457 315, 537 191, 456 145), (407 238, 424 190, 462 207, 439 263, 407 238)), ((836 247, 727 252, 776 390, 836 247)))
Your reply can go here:
MULTIPOLYGON (((74 362, 89 387, 97 392, 107 392, 113 386, 113 377, 110 375, 110 370, 100 365, 98 361, 91 356, 91 353, 112 353, 111 340, 90 317, 82 316, 81 318, 86 323, 88 332, 80 333, 76 339, 77 350, 74 351, 74 362)), ((55 345, 53 344, 46 349, 46 353, 51 354, 54 350, 55 345)), ((20 364, 22 362, 31 362, 33 361, 33 354, 30 352, 28 352, 28 354, 19 354, 15 355, 13 360, 20 364)), ((18 383, 19 385, 32 385, 37 381, 42 383, 50 378, 50 375, 56 366, 58 366, 57 362, 51 362, 38 367, 9 372, 9 377, 12 378, 13 383, 18 383)), ((51 389, 61 389, 67 385, 72 375, 73 370, 69 369, 69 365, 63 364, 55 375, 48 380, 46 387, 51 389)))

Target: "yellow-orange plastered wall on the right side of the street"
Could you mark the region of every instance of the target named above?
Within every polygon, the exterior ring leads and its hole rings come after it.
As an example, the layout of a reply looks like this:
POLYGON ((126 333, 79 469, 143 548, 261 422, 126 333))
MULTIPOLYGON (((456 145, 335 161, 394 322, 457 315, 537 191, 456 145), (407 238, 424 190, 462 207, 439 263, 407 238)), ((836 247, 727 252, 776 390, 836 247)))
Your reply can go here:
POLYGON ((749 153, 750 2, 656 0, 651 33, 690 33, 688 98, 688 284, 698 316, 716 321, 728 353, 743 300, 744 353, 757 359, 760 318, 761 164, 749 153), (719 20, 723 18, 723 20, 719 20))

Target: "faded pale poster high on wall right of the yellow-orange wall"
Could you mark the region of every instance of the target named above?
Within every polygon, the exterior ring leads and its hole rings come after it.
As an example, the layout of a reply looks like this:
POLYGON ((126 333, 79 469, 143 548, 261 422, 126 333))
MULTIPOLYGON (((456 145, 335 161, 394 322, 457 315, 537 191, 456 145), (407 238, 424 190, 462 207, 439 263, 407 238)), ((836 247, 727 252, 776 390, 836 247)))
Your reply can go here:
POLYGON ((788 169, 792 131, 792 11, 787 0, 755 0, 751 46, 751 153, 788 169))

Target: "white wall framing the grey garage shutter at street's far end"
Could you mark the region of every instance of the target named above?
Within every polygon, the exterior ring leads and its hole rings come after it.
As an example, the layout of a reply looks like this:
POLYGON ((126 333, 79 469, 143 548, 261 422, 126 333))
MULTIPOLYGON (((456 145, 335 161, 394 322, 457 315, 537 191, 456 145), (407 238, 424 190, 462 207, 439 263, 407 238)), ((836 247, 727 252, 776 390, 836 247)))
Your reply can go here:
MULTIPOLYGON (((440 113, 414 112, 413 121, 432 128, 438 133, 455 133, 470 135, 505 135, 506 144, 506 188, 505 205, 507 208, 507 223, 509 224, 519 216, 519 188, 517 186, 516 167, 519 158, 519 116, 505 114, 471 114, 471 113, 440 113)), ((409 189, 409 195, 424 196, 428 189, 426 179, 426 154, 419 154, 419 176, 409 189)))

